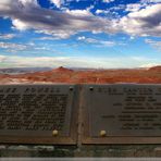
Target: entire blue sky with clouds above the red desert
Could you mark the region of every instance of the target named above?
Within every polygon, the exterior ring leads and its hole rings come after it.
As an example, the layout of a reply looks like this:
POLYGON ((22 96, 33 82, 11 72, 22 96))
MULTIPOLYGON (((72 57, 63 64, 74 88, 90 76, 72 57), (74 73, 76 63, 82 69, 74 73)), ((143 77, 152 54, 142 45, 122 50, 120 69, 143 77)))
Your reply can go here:
POLYGON ((0 67, 161 65, 161 0, 0 1, 0 67))

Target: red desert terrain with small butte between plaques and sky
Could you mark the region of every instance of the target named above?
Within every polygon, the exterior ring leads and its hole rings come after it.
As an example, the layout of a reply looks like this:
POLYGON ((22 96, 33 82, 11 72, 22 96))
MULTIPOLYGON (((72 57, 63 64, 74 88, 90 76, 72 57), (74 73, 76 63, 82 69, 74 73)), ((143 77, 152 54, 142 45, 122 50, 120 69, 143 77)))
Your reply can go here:
POLYGON ((47 72, 0 74, 0 84, 161 84, 161 66, 133 70, 70 70, 59 67, 47 72))

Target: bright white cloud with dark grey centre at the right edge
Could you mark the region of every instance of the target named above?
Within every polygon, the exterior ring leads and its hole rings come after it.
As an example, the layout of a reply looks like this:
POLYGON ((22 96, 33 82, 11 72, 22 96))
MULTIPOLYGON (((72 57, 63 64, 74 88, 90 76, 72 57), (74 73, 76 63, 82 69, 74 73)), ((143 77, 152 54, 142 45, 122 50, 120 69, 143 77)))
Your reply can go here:
POLYGON ((117 28, 133 36, 161 36, 161 4, 131 12, 117 22, 117 28))

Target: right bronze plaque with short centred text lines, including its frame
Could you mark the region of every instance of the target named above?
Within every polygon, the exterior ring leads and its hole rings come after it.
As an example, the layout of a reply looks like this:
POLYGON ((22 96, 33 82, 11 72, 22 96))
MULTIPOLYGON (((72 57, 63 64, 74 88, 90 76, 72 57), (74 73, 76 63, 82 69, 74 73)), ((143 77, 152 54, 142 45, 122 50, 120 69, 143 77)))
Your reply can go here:
POLYGON ((84 87, 85 143, 161 143, 161 85, 84 87))

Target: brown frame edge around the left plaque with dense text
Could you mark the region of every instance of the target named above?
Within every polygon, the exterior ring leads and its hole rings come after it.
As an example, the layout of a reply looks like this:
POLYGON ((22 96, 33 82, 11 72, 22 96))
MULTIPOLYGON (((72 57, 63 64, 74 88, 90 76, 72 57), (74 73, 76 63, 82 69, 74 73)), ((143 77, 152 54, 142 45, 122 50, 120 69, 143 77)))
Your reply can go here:
POLYGON ((27 144, 27 145, 76 145, 77 144, 77 111, 78 111, 78 86, 75 84, 18 84, 18 85, 0 85, 0 86, 67 86, 69 92, 70 87, 73 88, 73 107, 71 109, 71 125, 70 125, 70 136, 69 137, 42 137, 42 136, 1 136, 0 135, 0 144, 27 144))

